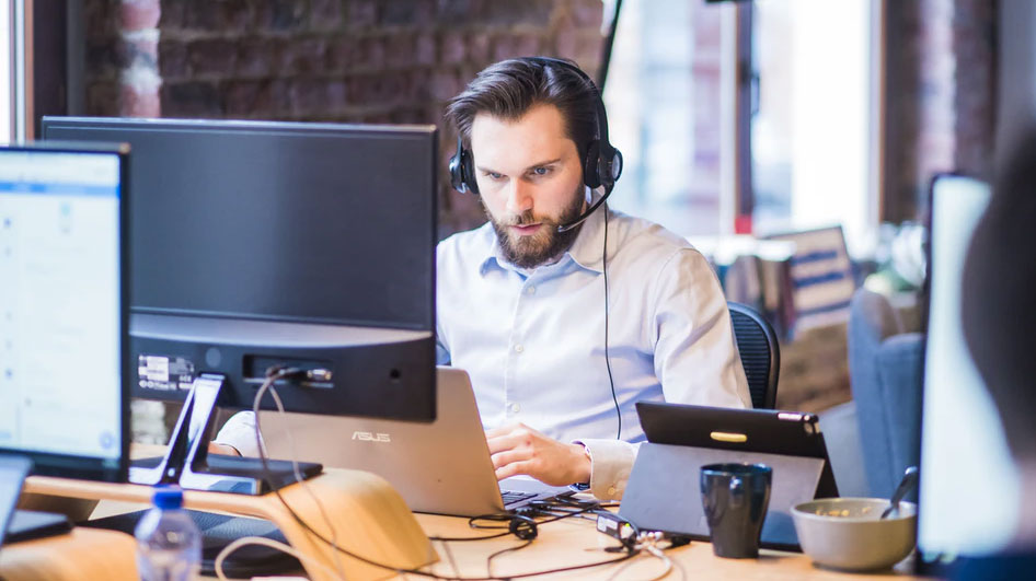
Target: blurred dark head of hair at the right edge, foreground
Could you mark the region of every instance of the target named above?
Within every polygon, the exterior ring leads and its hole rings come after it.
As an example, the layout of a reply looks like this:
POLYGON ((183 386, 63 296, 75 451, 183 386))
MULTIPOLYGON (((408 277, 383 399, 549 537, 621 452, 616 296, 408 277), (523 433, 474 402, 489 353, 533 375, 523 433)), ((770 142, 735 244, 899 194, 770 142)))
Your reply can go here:
POLYGON ((1036 131, 1024 135, 971 237, 962 323, 1012 454, 1036 460, 1036 131))

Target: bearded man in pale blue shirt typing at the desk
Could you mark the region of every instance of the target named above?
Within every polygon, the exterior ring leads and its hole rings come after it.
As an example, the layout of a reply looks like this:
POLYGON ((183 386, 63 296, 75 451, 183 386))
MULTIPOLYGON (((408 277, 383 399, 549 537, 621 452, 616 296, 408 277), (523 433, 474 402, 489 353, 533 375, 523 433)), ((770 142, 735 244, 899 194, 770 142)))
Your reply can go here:
POLYGON ((610 147, 582 71, 498 62, 446 116, 488 222, 439 244, 439 363, 471 374, 498 478, 621 498, 644 440, 636 402, 750 407, 726 301, 698 251, 607 206, 566 229, 600 194, 587 158, 610 147))

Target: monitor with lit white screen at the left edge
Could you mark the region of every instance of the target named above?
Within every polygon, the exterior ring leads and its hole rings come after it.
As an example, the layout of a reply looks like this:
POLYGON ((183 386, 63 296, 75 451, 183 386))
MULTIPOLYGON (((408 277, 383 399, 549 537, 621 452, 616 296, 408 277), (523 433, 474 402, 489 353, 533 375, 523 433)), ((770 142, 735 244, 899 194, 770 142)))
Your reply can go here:
POLYGON ((128 148, 0 147, 0 454, 125 480, 128 148))

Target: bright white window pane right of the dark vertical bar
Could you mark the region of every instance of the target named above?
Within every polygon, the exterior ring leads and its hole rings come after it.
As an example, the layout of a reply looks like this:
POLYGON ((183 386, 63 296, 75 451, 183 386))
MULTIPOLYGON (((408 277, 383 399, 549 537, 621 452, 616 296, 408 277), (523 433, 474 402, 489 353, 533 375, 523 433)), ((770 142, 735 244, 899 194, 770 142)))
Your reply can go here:
POLYGON ((877 226, 874 0, 752 2, 751 176, 757 234, 877 226))

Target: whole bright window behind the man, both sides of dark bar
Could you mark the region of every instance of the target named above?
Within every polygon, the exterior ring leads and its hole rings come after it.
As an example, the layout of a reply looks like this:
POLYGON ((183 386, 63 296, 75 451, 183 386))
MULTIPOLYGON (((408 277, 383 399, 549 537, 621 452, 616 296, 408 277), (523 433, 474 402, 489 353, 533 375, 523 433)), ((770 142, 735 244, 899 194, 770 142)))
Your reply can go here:
POLYGON ((841 224, 859 251, 877 225, 879 4, 625 0, 603 95, 625 158, 613 205, 687 236, 841 224))

